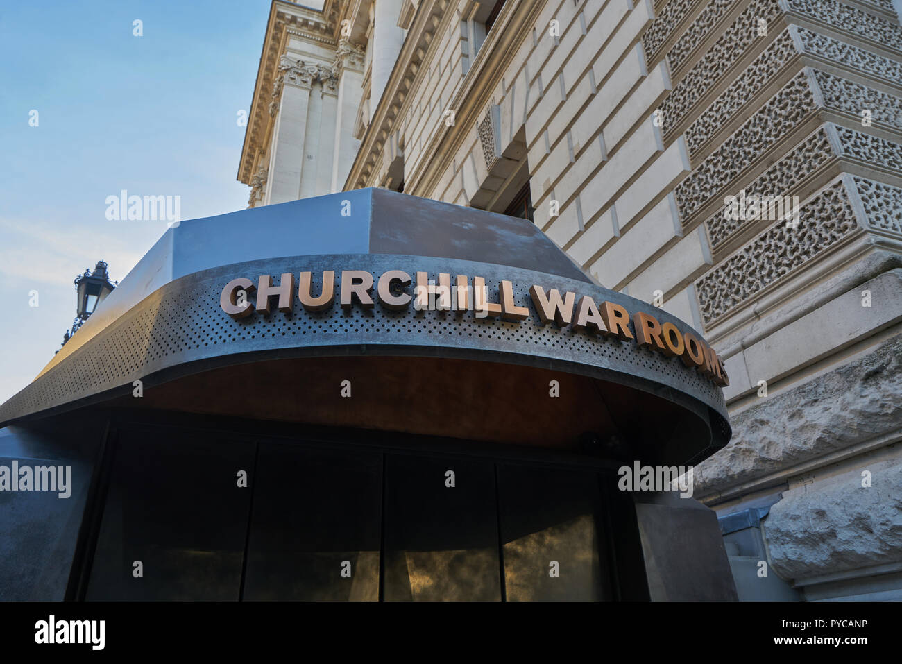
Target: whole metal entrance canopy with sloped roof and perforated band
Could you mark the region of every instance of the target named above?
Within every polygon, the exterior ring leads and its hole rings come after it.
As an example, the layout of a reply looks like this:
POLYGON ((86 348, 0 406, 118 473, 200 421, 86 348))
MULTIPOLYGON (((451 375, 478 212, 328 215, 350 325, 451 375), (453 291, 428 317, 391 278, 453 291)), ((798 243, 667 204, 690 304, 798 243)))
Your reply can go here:
MULTIPOLYGON (((594 284, 536 226, 382 189, 360 189, 182 222, 170 228, 95 314, 22 392, 0 406, 0 423, 71 410, 229 364, 330 355, 460 357, 583 374, 652 392, 704 420, 708 456, 731 432, 723 392, 677 357, 632 342, 543 325, 443 311, 278 310, 235 320, 219 295, 236 277, 284 272, 389 270, 479 275, 497 299, 501 280, 517 302, 543 284, 653 312, 594 284), (493 289, 493 291, 492 291, 493 289)), ((497 301, 497 300, 495 300, 497 301)), ((515 395, 511 395, 515 398, 515 395)))

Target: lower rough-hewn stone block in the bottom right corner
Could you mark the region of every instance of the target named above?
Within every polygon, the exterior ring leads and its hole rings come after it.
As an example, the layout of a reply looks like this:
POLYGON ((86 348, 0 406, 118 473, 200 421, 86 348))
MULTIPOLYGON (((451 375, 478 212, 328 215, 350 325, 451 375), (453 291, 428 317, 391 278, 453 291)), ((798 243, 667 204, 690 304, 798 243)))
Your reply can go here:
POLYGON ((783 494, 763 527, 774 570, 785 578, 902 560, 902 462, 851 472, 783 494))

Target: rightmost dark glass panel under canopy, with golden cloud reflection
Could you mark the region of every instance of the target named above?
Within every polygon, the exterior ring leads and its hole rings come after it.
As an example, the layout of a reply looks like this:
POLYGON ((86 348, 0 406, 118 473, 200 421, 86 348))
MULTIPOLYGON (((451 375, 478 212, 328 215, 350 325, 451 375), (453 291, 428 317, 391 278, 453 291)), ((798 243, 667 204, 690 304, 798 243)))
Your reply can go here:
POLYGON ((610 598, 594 473, 498 466, 498 489, 509 601, 610 598))

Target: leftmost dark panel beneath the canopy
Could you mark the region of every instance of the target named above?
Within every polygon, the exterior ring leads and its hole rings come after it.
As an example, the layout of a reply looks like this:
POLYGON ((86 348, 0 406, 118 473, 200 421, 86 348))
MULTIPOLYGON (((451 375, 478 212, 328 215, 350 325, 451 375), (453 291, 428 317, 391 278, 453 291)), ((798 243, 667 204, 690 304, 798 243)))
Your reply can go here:
POLYGON ((88 600, 237 600, 253 443, 123 432, 88 600), (135 575, 140 561, 143 576, 135 575))

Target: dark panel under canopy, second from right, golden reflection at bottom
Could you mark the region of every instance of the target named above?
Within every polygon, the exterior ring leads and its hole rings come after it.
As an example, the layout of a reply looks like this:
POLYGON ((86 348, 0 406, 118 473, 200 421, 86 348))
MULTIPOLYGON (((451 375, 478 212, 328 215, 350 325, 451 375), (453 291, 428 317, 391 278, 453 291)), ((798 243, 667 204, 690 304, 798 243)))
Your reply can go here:
POLYGON ((386 457, 383 579, 389 601, 502 598, 491 462, 386 457))

